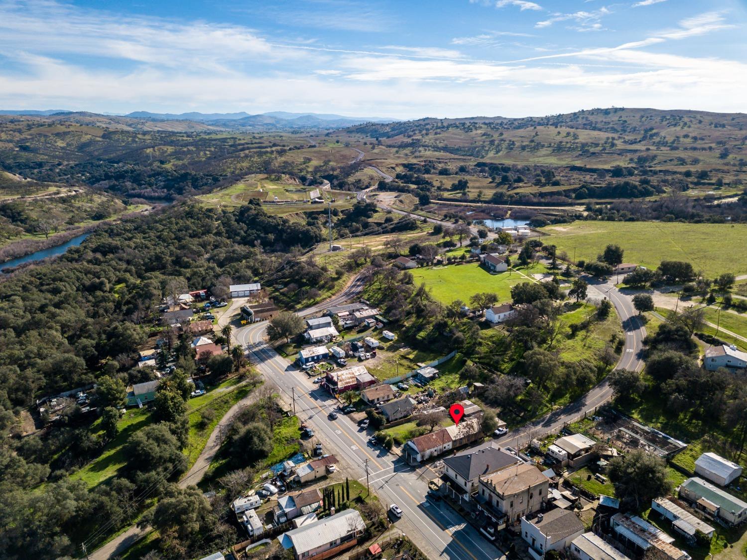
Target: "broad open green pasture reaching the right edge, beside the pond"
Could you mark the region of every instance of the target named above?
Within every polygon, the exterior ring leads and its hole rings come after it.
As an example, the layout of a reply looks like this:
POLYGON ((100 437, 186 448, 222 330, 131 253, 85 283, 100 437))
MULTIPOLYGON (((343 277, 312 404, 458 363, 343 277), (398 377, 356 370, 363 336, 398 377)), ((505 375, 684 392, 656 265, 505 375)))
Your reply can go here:
POLYGON ((681 224, 678 222, 577 221, 542 228, 555 244, 576 259, 596 259, 607 244, 625 250, 625 262, 657 268, 663 260, 692 262, 713 278, 723 272, 747 274, 747 261, 734 258, 734 247, 747 239, 746 224, 681 224))

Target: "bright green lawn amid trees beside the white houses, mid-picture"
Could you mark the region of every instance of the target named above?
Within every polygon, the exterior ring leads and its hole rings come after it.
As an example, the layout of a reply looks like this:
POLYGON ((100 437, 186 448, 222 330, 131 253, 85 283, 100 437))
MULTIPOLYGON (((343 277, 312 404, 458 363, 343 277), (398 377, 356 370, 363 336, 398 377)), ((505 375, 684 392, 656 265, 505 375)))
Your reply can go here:
POLYGON ((477 262, 465 265, 415 268, 412 271, 415 283, 425 283, 430 295, 442 304, 460 299, 466 304, 478 292, 494 292, 498 302, 511 301, 511 286, 534 280, 531 274, 546 273, 542 265, 517 267, 500 274, 490 274, 477 262))

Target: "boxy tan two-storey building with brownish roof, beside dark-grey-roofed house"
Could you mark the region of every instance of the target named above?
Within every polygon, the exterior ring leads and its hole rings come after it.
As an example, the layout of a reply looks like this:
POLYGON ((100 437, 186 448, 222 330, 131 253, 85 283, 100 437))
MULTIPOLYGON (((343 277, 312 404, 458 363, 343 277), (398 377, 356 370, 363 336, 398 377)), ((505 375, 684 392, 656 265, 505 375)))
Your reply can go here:
POLYGON ((550 480, 530 463, 520 463, 498 473, 478 477, 480 510, 500 522, 517 522, 545 506, 550 480))

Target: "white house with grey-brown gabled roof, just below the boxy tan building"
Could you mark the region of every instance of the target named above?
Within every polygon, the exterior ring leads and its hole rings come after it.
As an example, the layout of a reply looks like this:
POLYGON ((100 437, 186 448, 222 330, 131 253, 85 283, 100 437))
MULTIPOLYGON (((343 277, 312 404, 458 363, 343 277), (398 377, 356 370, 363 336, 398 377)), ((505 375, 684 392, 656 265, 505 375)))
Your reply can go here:
POLYGON ((545 558, 548 550, 565 550, 583 532, 581 520, 566 509, 521 517, 521 538, 529 544, 529 555, 536 560, 545 558))

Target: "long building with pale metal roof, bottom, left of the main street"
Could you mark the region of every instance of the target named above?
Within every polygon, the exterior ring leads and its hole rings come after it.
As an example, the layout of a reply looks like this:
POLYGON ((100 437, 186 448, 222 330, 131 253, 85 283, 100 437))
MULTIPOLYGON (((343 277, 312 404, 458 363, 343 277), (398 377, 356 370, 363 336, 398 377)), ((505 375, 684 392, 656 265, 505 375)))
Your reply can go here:
POLYGON ((346 509, 285 532, 278 541, 285 550, 292 550, 295 560, 326 559, 355 547, 365 528, 361 514, 346 509))

